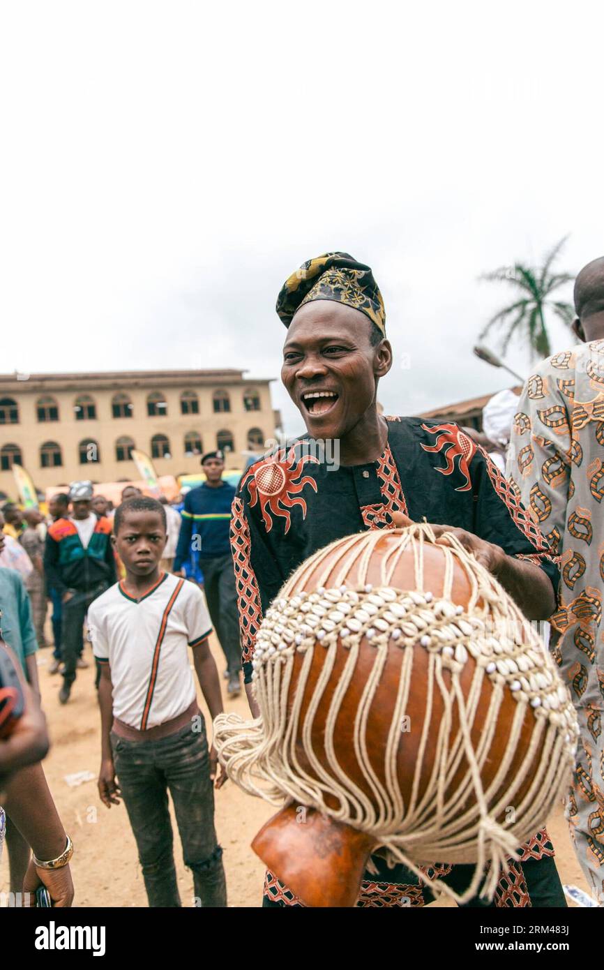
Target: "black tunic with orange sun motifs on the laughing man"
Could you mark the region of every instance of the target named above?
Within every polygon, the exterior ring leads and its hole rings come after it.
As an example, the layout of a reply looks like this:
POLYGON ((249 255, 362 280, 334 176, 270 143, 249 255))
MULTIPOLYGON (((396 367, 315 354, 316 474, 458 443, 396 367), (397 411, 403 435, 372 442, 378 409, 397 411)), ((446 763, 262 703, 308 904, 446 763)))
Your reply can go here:
MULTIPOLYGON (((325 445, 301 436, 251 466, 241 478, 233 502, 231 545, 246 682, 251 680, 254 640, 263 615, 287 577, 335 539, 392 526, 393 512, 403 512, 414 522, 449 525, 479 535, 508 555, 540 566, 556 590, 556 559, 526 513, 518 489, 488 455, 457 425, 421 418, 389 417, 387 421, 388 441, 377 461, 337 466, 325 445)), ((536 860, 553 855, 545 832, 523 848, 524 861, 531 860, 528 870, 536 860)), ((383 868, 379 860, 377 864, 383 868)), ((437 872, 453 879, 463 868, 456 866, 451 874, 450 866, 441 866, 437 872)), ((527 878, 523 863, 514 863, 502 875, 498 904, 529 905, 527 878)), ((539 882, 546 886, 549 900, 543 905, 564 905, 557 877, 544 881, 540 867, 539 882), (553 889, 547 888, 550 883, 553 889)), ((266 898, 281 905, 296 902, 270 874, 266 898)), ((367 874, 359 905, 423 905, 424 901, 425 890, 415 877, 397 866, 389 871, 387 882, 376 882, 375 876, 367 874), (411 903, 400 902, 407 898, 411 903)))

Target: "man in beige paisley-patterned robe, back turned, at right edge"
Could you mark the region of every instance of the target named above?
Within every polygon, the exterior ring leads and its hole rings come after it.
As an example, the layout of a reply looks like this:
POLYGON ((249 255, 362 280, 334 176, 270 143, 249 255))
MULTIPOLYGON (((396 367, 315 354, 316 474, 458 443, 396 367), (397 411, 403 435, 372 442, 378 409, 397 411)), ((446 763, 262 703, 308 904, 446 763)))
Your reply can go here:
POLYGON ((604 258, 575 282, 573 324, 584 341, 528 378, 508 472, 560 555, 554 653, 581 736, 568 807, 577 856, 604 905, 604 258), (557 640, 557 642, 556 642, 557 640))

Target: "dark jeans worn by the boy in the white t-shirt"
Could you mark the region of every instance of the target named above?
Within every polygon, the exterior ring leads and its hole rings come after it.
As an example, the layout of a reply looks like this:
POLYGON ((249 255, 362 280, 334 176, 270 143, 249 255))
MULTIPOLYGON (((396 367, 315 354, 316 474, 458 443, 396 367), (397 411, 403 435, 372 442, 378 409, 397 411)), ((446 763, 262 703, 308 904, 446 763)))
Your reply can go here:
POLYGON ((222 849, 214 828, 203 717, 159 741, 127 741, 111 731, 113 764, 143 866, 149 906, 180 906, 168 790, 197 906, 227 905, 222 849), (200 727, 195 731, 193 727, 200 727))

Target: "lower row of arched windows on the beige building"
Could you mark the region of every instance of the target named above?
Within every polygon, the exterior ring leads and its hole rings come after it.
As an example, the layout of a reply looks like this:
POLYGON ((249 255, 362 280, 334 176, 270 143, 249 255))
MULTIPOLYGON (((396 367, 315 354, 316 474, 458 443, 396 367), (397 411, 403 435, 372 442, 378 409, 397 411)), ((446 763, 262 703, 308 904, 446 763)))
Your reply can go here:
MULTIPOLYGON (((247 433, 247 447, 250 451, 260 451, 264 448, 265 437, 260 428, 250 428, 247 433)), ((196 431, 188 432, 183 439, 184 456, 201 455, 203 451, 202 438, 196 431)), ((219 431, 216 435, 216 447, 222 451, 234 451, 235 441, 230 431, 219 431)), ((131 437, 118 437, 115 441, 115 461, 127 462, 132 458, 132 449, 136 444, 131 437)), ((151 438, 152 458, 172 458, 170 439, 165 435, 154 435, 151 438)), ((100 462, 101 451, 93 438, 84 438, 78 445, 80 465, 88 462, 100 462)), ((5 444, 0 448, 0 469, 10 471, 14 465, 22 465, 21 449, 17 444, 5 444)), ((63 453, 56 441, 45 441, 40 447, 40 467, 43 469, 60 468, 63 465, 63 453)))

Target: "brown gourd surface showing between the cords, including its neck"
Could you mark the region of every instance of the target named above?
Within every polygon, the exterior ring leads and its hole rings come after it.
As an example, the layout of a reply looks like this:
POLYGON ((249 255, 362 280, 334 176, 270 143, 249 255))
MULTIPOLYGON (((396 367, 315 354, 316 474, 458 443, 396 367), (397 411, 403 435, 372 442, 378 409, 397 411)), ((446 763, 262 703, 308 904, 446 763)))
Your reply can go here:
MULTIPOLYGON (((359 542, 363 534, 359 536, 359 542)), ((342 542, 348 540, 342 540, 342 542)), ((349 589, 358 589, 371 584, 376 590, 380 586, 405 592, 416 591, 419 588, 417 571, 417 548, 415 553, 409 547, 400 555, 397 548, 400 545, 400 531, 385 531, 376 538, 370 550, 370 555, 362 561, 360 556, 354 555, 342 558, 341 546, 333 546, 323 550, 320 559, 314 557, 303 564, 287 584, 287 596, 298 595, 305 591, 314 593, 320 588, 332 589, 344 584, 349 589), (394 564, 394 569, 388 574, 388 583, 384 582, 384 561, 394 564), (345 568, 343 569, 342 564, 345 568)), ((348 546, 350 548, 350 545, 348 546)), ((353 549, 354 552, 354 549, 353 549)), ((430 542, 422 545, 422 581, 420 592, 432 594, 433 598, 448 598, 456 606, 464 610, 472 597, 472 585, 468 572, 460 559, 441 546, 430 542), (449 588, 445 589, 445 573, 448 568, 449 588)), ((485 606, 481 598, 476 599, 474 587, 474 607, 479 611, 485 606)), ((505 594, 501 593, 502 597, 505 594)), ((439 727, 445 710, 445 700, 441 690, 429 691, 430 683, 430 654, 420 643, 407 643, 401 648, 397 641, 390 639, 387 644, 387 655, 381 669, 379 682, 372 696, 365 728, 365 743, 368 760, 380 785, 386 785, 385 752, 389 733, 393 729, 393 712, 401 674, 401 665, 408 652, 413 655, 412 673, 408 700, 404 710, 404 723, 401 723, 397 738, 396 765, 397 784, 402 795, 403 803, 407 806, 412 800, 412 788, 416 765, 421 764, 419 784, 416 779, 417 791, 415 803, 422 801, 423 795, 433 790, 435 766, 438 746, 439 727), (430 701, 429 701, 430 694, 430 701), (425 728, 428 728, 427 730, 425 728), (421 751, 421 748, 423 750, 421 751)), ((310 727, 310 746, 313 757, 321 765, 323 771, 334 774, 330 765, 326 748, 326 723, 334 692, 340 682, 341 674, 350 654, 337 641, 334 666, 324 686, 320 701, 316 708, 310 727)), ((350 680, 339 709, 334 727, 334 753, 341 771, 368 798, 373 798, 370 784, 367 782, 366 771, 360 763, 355 750, 355 721, 360 709, 361 698, 366 688, 367 679, 375 662, 375 647, 366 636, 360 640, 359 651, 355 663, 354 674, 350 680)), ((328 651, 321 643, 314 644, 310 667, 302 694, 302 706, 298 721, 299 734, 295 737, 295 757, 302 772, 311 779, 319 779, 311 760, 307 757, 305 745, 302 741, 302 725, 307 720, 309 704, 324 664, 328 651)), ((306 654, 296 652, 293 657, 293 667, 286 697, 288 719, 292 712, 292 705, 301 676, 302 664, 306 654)), ((433 658, 432 658, 432 663, 433 658)), ((469 656, 463 663, 457 676, 464 702, 467 702, 470 688, 476 673, 477 662, 469 656)), ((433 674, 433 667, 432 667, 433 674)), ((440 675, 445 688, 445 694, 450 692, 452 673, 445 667, 440 668, 440 675)), ((433 677, 432 677, 433 680, 433 677)), ((472 750, 478 750, 483 738, 486 719, 493 694, 493 682, 489 676, 482 675, 480 693, 476 706, 476 713, 471 724, 465 725, 469 730, 472 750)), ((300 698, 299 698, 300 699, 300 698)), ((316 698, 315 698, 316 699, 316 698)), ((451 705, 452 721, 450 725, 451 737, 461 734, 460 707, 457 702, 451 705)), ((507 812, 515 805, 523 802, 529 791, 535 772, 539 770, 543 745, 537 745, 534 757, 527 770, 529 745, 535 728, 535 713, 529 704, 524 705, 524 720, 515 738, 515 748, 509 760, 504 777, 497 783, 493 792, 491 787, 502 760, 509 757, 509 746, 512 724, 518 712, 518 700, 511 690, 503 691, 501 703, 496 715, 496 725, 493 737, 488 747, 486 758, 482 760, 480 768, 480 782, 483 792, 489 792, 488 809, 493 822, 504 824, 507 812), (515 779, 521 779, 520 783, 515 779), (513 792, 513 804, 505 801, 506 792, 513 792), (496 806, 496 810, 495 810, 496 806)), ((306 727, 307 724, 306 724, 306 727)), ((307 744, 307 740, 306 740, 307 744)), ((323 774, 323 772, 321 772, 323 774)), ((446 779, 443 792, 445 804, 456 804, 459 815, 469 809, 476 808, 476 793, 467 781, 470 776, 470 764, 466 752, 460 747, 460 758, 451 769, 446 779), (461 798, 459 797, 462 793, 461 798)), ((325 783, 325 775, 323 775, 325 783)), ((337 786, 334 794, 325 794, 325 804, 332 811, 336 811, 338 797, 337 786)), ((375 806, 376 808, 378 806, 375 806)), ((424 825, 435 822, 436 810, 425 815, 424 825)), ((530 833, 526 832, 526 837, 530 833)), ((258 833, 253 842, 256 853, 267 863, 271 871, 283 881, 289 889, 297 894, 306 905, 311 906, 352 906, 357 898, 366 862, 370 854, 379 848, 380 842, 375 833, 359 830, 350 824, 344 824, 330 817, 329 812, 320 813, 311 807, 305 807, 303 802, 286 804, 258 833), (302 810, 302 811, 301 811, 302 810)), ((475 862, 477 852, 475 846, 460 839, 456 846, 455 839, 449 845, 446 857, 422 857, 421 850, 413 856, 414 863, 429 866, 434 862, 456 863, 475 862)))

